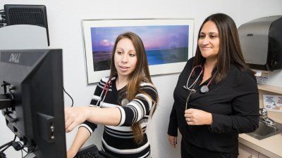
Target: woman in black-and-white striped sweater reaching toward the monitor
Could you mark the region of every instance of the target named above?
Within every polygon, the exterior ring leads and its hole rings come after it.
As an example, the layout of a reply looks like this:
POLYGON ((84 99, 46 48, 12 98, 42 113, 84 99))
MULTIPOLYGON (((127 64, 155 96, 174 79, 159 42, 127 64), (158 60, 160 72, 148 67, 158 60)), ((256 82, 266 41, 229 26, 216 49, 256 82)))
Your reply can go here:
POLYGON ((104 124, 102 150, 115 157, 150 157, 146 127, 158 93, 152 84, 144 45, 136 34, 117 37, 110 77, 99 81, 90 107, 67 107, 66 131, 80 124, 68 158, 74 157, 96 124, 104 124), (105 107, 105 108, 99 108, 105 107))

